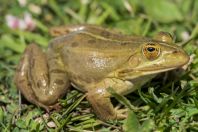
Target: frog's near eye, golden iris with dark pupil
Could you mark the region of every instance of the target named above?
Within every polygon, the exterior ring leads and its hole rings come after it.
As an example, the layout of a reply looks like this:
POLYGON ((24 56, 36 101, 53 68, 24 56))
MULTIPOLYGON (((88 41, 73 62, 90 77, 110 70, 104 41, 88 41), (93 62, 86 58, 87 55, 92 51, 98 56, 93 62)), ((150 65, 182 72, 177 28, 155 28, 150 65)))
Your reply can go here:
POLYGON ((158 44, 146 44, 142 47, 142 53, 148 60, 155 60, 160 55, 160 46, 158 44))

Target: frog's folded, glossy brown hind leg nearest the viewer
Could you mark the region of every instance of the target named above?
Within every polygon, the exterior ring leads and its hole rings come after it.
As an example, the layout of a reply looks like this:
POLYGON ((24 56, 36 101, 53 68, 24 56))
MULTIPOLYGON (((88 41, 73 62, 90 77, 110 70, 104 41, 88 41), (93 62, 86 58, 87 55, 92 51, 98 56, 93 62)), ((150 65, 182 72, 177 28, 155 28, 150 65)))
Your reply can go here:
POLYGON ((47 55, 35 44, 29 45, 18 65, 15 83, 25 98, 49 111, 65 94, 69 80, 60 57, 53 50, 47 55))

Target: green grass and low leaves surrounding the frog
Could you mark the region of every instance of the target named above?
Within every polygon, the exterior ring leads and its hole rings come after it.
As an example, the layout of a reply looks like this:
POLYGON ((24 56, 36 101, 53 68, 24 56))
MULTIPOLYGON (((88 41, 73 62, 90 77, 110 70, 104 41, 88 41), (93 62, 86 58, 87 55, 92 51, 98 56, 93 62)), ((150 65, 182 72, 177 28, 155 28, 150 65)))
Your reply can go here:
POLYGON ((26 6, 1 1, 0 131, 198 131, 197 10, 197 0, 29 0, 26 6), (22 18, 24 12, 32 14, 34 31, 6 25, 6 15, 22 18), (85 96, 74 89, 60 100, 63 108, 58 112, 48 114, 23 97, 19 103, 13 75, 25 47, 35 42, 46 48, 50 27, 79 23, 147 37, 167 31, 194 59, 185 71, 166 73, 125 97, 113 92, 117 103, 130 108, 126 120, 99 120, 85 96))

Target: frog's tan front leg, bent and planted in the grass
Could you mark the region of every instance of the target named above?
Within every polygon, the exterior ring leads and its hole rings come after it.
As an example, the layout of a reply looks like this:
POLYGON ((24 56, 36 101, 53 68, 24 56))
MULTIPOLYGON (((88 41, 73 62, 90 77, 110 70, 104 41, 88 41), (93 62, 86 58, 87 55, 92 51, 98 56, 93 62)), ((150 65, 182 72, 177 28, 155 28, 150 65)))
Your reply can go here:
POLYGON ((96 115, 102 120, 126 118, 126 109, 114 108, 112 105, 111 94, 107 90, 109 87, 119 94, 135 90, 130 82, 107 78, 94 86, 90 86, 90 90, 87 92, 87 100, 92 105, 96 115))

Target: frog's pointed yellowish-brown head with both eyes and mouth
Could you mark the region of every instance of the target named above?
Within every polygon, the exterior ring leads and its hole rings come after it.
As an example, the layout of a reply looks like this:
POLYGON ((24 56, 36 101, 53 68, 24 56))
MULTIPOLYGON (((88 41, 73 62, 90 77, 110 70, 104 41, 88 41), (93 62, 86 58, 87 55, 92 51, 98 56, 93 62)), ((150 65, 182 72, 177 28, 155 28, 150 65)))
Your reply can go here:
POLYGON ((131 55, 127 68, 119 73, 132 79, 176 69, 188 61, 189 56, 173 44, 172 37, 168 33, 160 32, 153 40, 142 42, 131 55))

